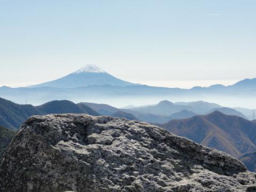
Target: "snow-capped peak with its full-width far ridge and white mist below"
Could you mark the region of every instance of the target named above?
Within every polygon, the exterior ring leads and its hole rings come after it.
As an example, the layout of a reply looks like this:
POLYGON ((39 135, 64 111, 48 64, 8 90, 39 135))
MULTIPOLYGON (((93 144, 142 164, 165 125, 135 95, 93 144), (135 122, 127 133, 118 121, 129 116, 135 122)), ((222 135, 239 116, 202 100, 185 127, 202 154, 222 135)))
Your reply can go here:
MULTIPOLYGON (((97 66, 88 65, 54 81, 30 87, 0 87, 0 97, 23 104, 28 101, 32 105, 42 105, 52 100, 70 100, 123 106, 124 103, 144 105, 164 99, 175 101, 190 99, 221 102, 225 106, 235 106, 239 103, 238 107, 256 108, 255 82, 256 78, 244 79, 230 86, 212 85, 192 89, 155 87, 126 82, 97 66)), ((190 110, 189 108, 186 110, 190 110)))

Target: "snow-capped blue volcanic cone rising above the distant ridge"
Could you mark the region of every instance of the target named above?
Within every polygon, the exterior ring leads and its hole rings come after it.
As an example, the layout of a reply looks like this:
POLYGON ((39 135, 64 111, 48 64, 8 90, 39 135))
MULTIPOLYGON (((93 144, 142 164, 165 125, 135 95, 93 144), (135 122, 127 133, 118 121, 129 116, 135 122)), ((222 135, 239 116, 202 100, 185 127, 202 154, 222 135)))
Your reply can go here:
POLYGON ((54 81, 45 82, 37 85, 29 86, 34 87, 58 87, 58 88, 74 88, 89 85, 112 85, 112 86, 129 86, 138 85, 118 79, 106 71, 100 69, 95 65, 86 65, 75 72, 56 79, 54 81))

